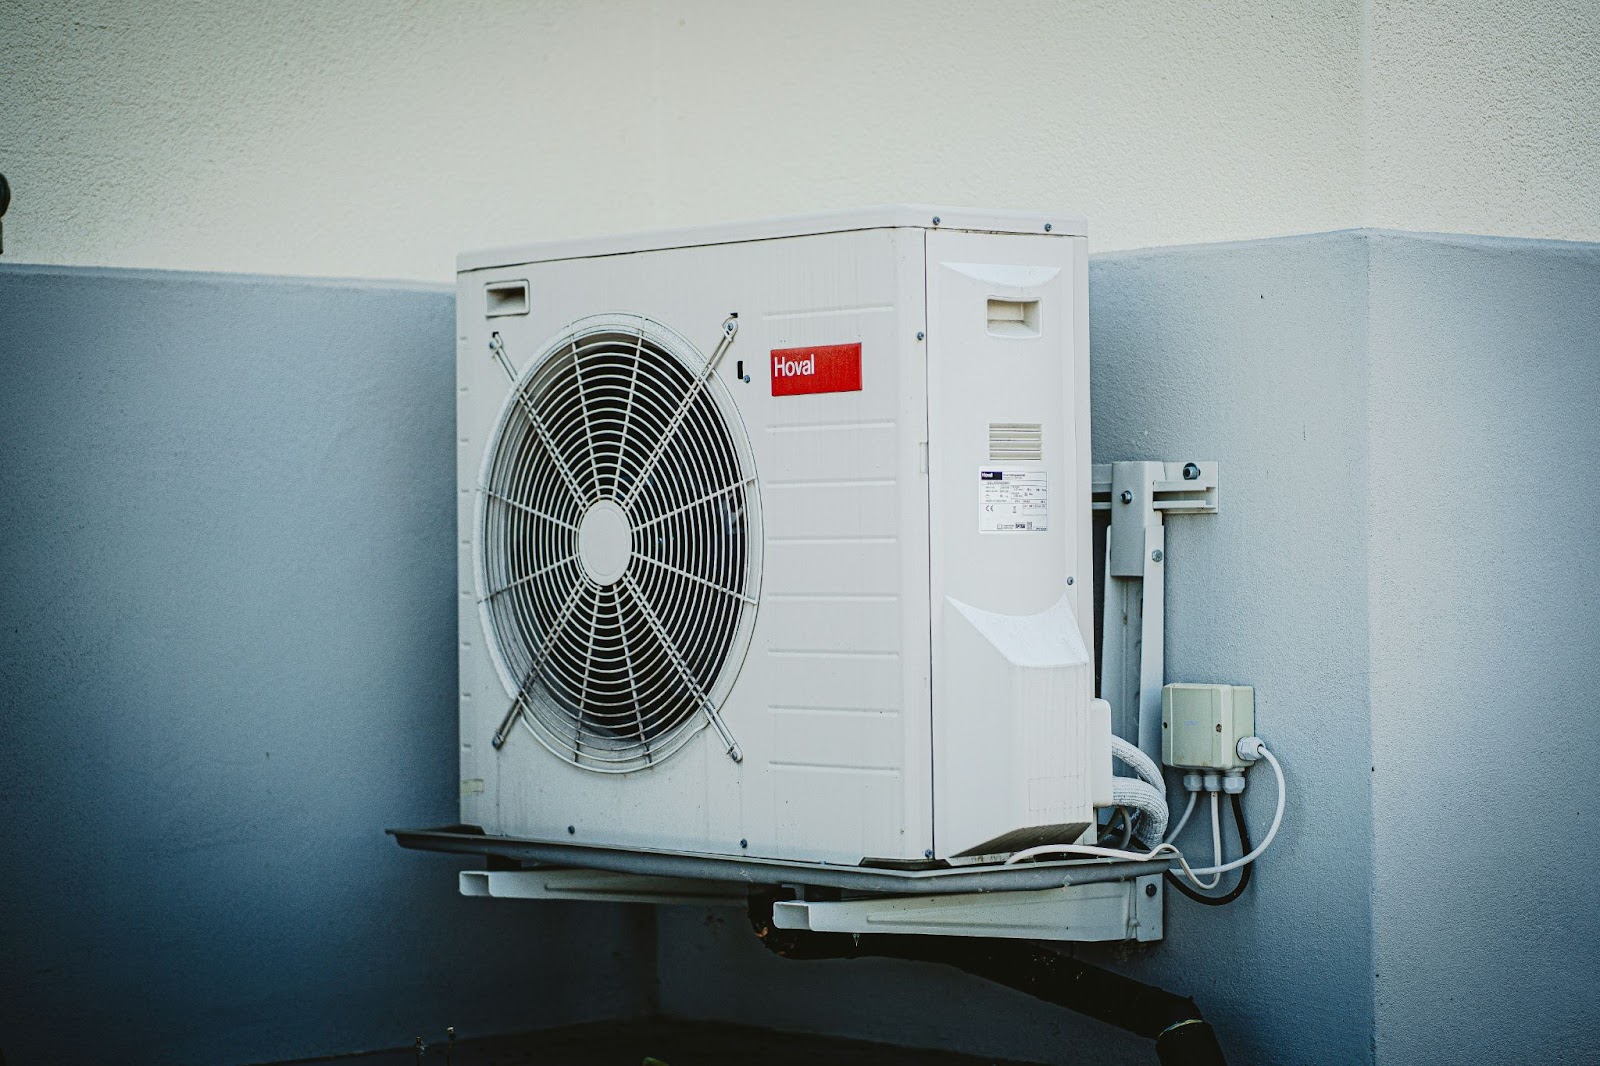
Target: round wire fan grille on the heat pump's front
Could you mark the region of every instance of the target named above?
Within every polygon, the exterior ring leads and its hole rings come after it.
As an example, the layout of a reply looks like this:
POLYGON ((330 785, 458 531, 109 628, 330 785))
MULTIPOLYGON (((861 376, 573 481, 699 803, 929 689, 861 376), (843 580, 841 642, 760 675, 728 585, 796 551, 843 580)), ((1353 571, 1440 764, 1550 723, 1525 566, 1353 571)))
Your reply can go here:
POLYGON ((517 379, 478 514, 485 629, 539 743, 640 770, 717 714, 749 643, 760 514, 731 397, 688 341, 574 323, 517 379))

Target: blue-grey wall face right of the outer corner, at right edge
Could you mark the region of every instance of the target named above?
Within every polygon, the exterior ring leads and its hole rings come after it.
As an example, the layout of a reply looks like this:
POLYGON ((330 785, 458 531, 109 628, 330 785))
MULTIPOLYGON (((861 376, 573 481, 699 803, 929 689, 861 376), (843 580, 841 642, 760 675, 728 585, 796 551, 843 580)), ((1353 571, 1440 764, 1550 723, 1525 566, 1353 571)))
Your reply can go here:
POLYGON ((1600 246, 1368 248, 1378 1056, 1600 1061, 1600 246))

